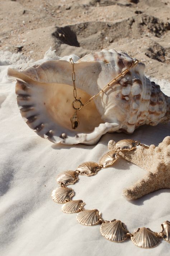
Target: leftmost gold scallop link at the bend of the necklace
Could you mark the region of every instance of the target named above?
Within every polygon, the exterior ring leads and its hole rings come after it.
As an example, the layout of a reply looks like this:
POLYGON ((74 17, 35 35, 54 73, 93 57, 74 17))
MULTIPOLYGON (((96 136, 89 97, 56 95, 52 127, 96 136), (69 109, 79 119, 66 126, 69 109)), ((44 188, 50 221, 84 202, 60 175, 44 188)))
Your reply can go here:
POLYGON ((74 196, 74 191, 72 188, 59 187, 52 191, 51 196, 56 203, 66 203, 74 196))

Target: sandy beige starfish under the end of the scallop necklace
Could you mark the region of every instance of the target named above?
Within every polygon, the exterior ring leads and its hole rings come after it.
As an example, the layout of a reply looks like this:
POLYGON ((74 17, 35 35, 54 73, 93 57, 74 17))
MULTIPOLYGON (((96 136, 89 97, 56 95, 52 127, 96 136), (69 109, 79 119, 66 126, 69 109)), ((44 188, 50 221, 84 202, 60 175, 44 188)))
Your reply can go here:
MULTIPOLYGON (((108 148, 115 149, 113 140, 109 141, 108 148)), ((121 151, 119 156, 147 171, 143 179, 124 189, 127 199, 137 199, 156 190, 170 188, 170 136, 165 137, 157 147, 150 145, 149 148, 121 151)))

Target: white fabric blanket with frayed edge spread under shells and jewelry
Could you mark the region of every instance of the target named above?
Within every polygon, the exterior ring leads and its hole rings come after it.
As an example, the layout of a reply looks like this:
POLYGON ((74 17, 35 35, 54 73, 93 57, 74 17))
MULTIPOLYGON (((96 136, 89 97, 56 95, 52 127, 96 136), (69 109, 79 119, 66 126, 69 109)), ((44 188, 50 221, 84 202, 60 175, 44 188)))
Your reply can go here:
MULTIPOLYGON (((138 248, 129 239, 122 243, 106 240, 100 234, 100 225, 83 226, 77 222, 76 214, 64 214, 61 205, 53 202, 51 191, 58 187, 57 174, 75 170, 85 161, 98 161, 108 151, 110 139, 132 138, 147 145, 157 145, 170 135, 170 123, 143 126, 131 136, 105 134, 95 146, 52 144, 24 123, 16 103, 15 82, 6 76, 9 65, 16 63, 17 56, 7 55, 8 61, 1 60, 3 66, 0 66, 0 255, 169 255, 170 244, 166 241, 146 250, 138 248)), ((2 56, 5 55, 1 52, 2 56)), ((36 63, 57 58, 49 51, 36 63)), ((17 65, 24 61, 28 59, 18 58, 17 65)), ((29 63, 21 66, 27 67, 29 63)), ((170 84, 156 82, 170 96, 170 84)), ((161 223, 170 221, 168 189, 136 201, 127 201, 122 196, 123 188, 143 175, 145 170, 121 160, 95 176, 81 176, 79 182, 70 187, 76 192, 74 199, 82 199, 86 209, 97 208, 106 220, 121 220, 129 232, 142 226, 160 232, 161 223)))

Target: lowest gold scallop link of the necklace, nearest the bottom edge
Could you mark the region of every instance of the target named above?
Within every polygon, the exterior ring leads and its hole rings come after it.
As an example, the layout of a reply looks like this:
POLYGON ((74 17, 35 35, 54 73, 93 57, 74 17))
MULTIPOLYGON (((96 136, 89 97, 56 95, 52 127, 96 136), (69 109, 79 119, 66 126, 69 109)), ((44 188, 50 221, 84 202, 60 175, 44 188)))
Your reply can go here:
POLYGON ((149 228, 138 228, 131 237, 132 242, 138 247, 152 248, 159 244, 160 239, 156 236, 157 233, 149 228))

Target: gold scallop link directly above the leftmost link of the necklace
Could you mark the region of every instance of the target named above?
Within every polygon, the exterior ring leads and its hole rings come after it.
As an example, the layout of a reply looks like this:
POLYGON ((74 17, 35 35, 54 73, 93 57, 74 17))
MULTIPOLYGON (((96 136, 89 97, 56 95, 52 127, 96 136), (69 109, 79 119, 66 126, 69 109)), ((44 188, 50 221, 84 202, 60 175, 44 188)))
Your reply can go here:
POLYGON ((75 171, 65 171, 57 176, 57 183, 60 185, 74 184, 78 180, 78 174, 75 171))

